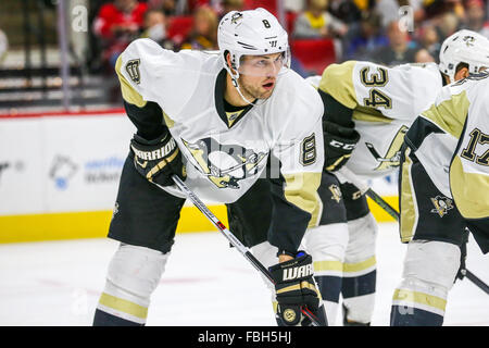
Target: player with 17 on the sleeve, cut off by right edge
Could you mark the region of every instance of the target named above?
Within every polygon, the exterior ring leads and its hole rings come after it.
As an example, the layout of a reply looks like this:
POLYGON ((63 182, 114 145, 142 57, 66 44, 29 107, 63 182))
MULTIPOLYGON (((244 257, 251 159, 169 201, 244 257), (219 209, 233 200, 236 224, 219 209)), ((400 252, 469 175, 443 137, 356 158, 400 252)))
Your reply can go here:
POLYGON ((485 65, 467 57, 474 74, 446 86, 405 135, 400 231, 410 241, 391 325, 443 323, 466 227, 489 251, 489 73, 476 73, 489 67, 489 49, 484 55, 485 65))

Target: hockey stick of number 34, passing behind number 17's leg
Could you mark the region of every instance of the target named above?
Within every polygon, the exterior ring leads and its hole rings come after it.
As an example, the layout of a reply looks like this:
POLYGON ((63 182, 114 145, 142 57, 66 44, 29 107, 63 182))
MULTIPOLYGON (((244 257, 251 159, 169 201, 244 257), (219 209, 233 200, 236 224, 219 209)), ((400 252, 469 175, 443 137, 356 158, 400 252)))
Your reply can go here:
MULTIPOLYGON (((377 195, 366 183, 361 181, 353 172, 349 169, 342 166, 338 170, 338 173, 341 174, 348 182, 355 185, 362 195, 366 195, 374 202, 376 202, 380 208, 383 208, 389 215, 391 215, 396 221, 399 222, 399 212, 392 208, 388 202, 384 200, 379 195, 377 195)), ((479 277, 477 277, 474 273, 468 271, 467 269, 461 271, 472 283, 474 283, 477 287, 479 287, 482 291, 489 295, 489 286, 484 283, 479 277)))

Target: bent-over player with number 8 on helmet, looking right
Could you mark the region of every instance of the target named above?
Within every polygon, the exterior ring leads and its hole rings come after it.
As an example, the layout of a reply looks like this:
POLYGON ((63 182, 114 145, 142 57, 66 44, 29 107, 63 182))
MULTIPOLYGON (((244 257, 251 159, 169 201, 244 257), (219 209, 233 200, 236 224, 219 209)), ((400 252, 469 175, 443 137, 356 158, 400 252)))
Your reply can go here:
MULTIPOLYGON (((93 325, 146 324, 185 202, 173 174, 200 198, 229 203, 247 192, 267 162, 279 164, 271 166, 277 174, 274 219, 262 243, 247 246, 271 270, 281 324, 310 324, 302 307, 326 322, 311 256, 298 252, 318 216, 321 98, 289 70, 287 33, 267 11, 227 13, 218 46, 215 53, 175 53, 138 39, 117 60, 124 105, 137 134, 109 231, 121 245, 93 325)), ((262 214, 246 217, 260 224, 262 214)))

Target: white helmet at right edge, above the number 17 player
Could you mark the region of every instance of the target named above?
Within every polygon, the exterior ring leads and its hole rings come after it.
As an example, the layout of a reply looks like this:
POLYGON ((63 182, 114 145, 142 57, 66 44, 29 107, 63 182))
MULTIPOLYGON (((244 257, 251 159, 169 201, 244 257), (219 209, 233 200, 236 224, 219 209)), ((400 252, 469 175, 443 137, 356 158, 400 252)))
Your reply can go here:
POLYGON ((489 40, 482 35, 467 29, 449 36, 441 45, 440 72, 454 82, 455 70, 460 63, 468 64, 471 74, 478 73, 481 67, 489 69, 489 40))

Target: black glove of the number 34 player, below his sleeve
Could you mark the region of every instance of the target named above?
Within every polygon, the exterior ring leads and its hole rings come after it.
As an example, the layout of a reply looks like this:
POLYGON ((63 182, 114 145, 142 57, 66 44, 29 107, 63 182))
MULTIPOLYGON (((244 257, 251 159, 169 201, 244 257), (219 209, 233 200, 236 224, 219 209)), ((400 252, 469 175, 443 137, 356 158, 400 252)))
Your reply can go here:
POLYGON ((347 163, 360 140, 354 128, 344 127, 334 122, 323 122, 324 134, 324 169, 329 172, 339 170, 347 163))

